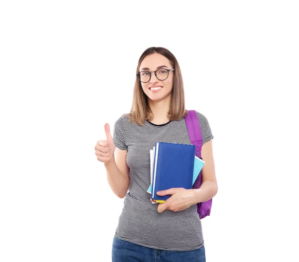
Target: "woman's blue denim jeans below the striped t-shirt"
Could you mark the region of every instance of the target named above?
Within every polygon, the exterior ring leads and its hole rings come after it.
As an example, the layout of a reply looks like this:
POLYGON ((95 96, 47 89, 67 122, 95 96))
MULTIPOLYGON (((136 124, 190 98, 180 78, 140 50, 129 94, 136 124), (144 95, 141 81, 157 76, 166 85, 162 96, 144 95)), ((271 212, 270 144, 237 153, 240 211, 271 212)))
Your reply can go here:
POLYGON ((205 262, 204 246, 191 251, 152 249, 113 239, 112 262, 205 262))

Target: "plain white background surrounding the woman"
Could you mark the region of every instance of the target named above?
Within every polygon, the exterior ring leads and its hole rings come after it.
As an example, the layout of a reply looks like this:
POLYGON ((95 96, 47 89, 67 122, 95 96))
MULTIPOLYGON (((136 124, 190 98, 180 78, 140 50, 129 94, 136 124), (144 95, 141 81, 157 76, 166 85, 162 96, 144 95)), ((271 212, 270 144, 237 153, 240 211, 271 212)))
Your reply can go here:
POLYGON ((215 137, 207 262, 299 261, 297 1, 108 2, 0 3, 0 261, 111 261, 123 199, 94 146, 150 46, 215 137))

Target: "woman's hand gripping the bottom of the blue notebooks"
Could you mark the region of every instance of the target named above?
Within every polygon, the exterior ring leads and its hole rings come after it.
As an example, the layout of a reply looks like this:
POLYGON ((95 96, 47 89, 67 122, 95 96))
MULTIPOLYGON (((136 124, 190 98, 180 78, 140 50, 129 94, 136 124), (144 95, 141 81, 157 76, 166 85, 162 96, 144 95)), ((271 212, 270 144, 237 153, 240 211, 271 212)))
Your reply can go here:
POLYGON ((161 213, 165 209, 172 211, 181 211, 187 209, 194 203, 193 189, 185 189, 182 187, 170 188, 167 190, 158 191, 157 195, 171 195, 164 203, 158 205, 158 212, 161 213))

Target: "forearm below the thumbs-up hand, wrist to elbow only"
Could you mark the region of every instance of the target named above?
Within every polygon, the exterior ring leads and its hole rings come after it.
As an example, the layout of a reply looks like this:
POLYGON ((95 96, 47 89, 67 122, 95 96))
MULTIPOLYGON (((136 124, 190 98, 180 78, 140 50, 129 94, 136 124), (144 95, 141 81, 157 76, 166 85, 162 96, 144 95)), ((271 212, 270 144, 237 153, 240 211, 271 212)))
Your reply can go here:
POLYGON ((109 163, 105 163, 107 180, 112 191, 120 198, 125 197, 130 185, 129 179, 116 165, 114 157, 109 163))

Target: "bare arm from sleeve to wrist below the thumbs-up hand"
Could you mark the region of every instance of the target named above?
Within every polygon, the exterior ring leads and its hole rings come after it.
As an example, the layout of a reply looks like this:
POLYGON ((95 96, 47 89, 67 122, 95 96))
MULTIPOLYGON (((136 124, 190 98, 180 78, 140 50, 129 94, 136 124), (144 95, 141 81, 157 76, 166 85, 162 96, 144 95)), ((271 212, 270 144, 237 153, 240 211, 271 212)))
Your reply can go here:
POLYGON ((130 185, 127 153, 127 150, 116 148, 111 161, 105 163, 108 183, 112 191, 120 198, 125 197, 130 185))

